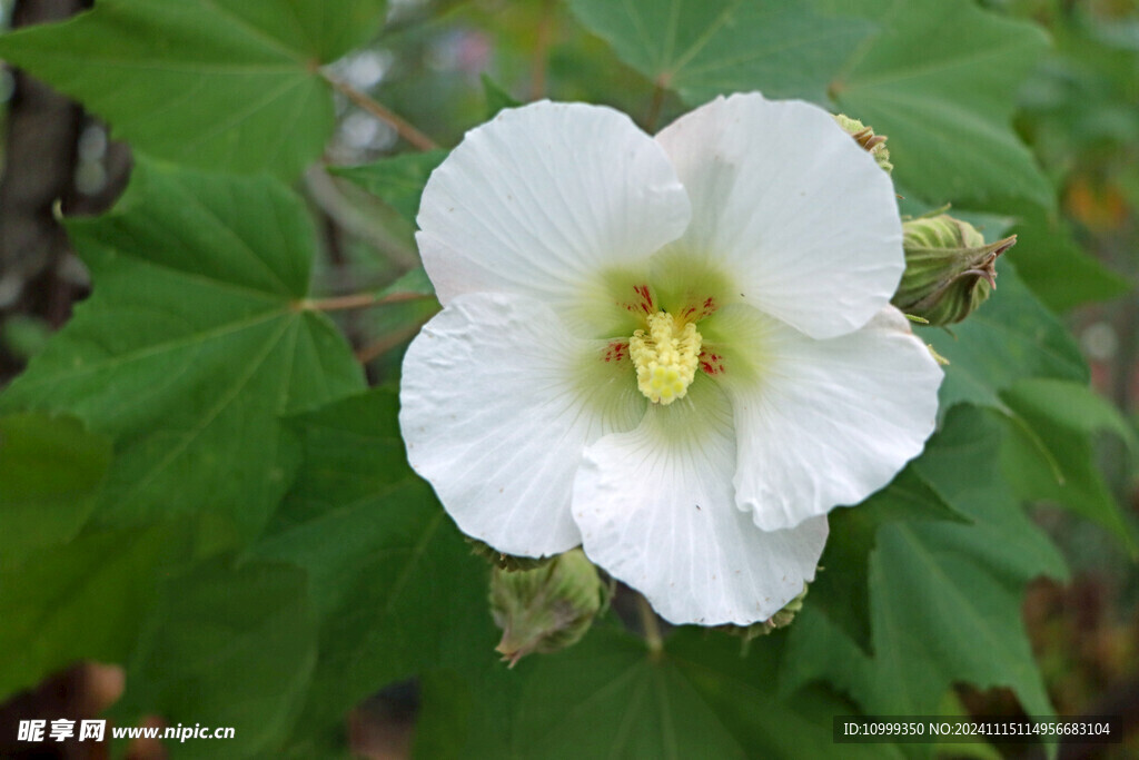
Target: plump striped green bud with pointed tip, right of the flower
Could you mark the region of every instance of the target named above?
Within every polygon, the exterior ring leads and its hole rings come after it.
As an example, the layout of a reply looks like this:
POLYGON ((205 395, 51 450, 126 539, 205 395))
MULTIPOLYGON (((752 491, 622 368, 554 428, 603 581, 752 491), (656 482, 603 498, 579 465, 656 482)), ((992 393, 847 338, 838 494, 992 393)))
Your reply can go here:
POLYGON ((959 322, 997 287, 997 256, 1014 244, 1015 235, 986 245, 973 224, 948 214, 907 221, 906 273, 891 303, 931 325, 959 322))

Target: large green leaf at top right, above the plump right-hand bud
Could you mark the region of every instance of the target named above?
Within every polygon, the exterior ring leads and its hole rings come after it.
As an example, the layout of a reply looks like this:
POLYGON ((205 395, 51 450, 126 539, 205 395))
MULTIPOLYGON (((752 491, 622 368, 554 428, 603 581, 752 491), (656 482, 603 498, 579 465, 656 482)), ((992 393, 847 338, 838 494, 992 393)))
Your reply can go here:
POLYGON ((877 23, 830 84, 846 115, 890 137, 894 177, 933 203, 992 210, 1052 205, 1052 190, 1010 126, 1016 90, 1048 44, 1032 24, 972 2, 822 0, 877 23))

